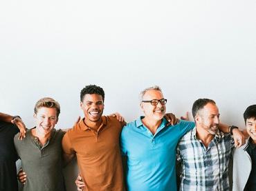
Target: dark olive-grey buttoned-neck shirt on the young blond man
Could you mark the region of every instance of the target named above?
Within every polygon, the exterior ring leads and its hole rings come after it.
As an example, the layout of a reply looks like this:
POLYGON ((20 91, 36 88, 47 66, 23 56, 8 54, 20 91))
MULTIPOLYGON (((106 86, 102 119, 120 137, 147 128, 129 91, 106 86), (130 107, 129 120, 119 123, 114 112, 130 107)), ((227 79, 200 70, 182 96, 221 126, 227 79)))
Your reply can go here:
POLYGON ((64 179, 62 174, 62 130, 55 130, 48 143, 39 145, 31 129, 26 132, 26 138, 20 141, 15 136, 15 148, 21 159, 21 165, 27 174, 24 191, 62 191, 64 179))

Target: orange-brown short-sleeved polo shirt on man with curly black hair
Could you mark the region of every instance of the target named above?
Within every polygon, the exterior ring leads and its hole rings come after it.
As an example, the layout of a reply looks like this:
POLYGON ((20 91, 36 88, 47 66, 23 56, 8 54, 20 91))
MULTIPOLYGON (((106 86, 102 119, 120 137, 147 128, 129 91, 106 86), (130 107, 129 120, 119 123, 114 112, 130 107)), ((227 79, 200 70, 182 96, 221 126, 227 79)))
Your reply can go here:
POLYGON ((98 130, 84 119, 68 130, 62 140, 66 154, 76 154, 84 190, 124 190, 119 137, 125 123, 116 117, 102 116, 98 130))

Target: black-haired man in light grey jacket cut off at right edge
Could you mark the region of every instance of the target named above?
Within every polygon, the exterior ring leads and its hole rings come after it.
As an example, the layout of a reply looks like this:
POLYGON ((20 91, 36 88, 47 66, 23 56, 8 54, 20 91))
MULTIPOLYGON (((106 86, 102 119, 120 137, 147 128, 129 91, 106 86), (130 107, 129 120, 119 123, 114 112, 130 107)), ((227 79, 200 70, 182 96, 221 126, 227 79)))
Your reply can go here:
POLYGON ((249 139, 235 150, 233 163, 233 190, 256 190, 256 105, 244 112, 249 139))

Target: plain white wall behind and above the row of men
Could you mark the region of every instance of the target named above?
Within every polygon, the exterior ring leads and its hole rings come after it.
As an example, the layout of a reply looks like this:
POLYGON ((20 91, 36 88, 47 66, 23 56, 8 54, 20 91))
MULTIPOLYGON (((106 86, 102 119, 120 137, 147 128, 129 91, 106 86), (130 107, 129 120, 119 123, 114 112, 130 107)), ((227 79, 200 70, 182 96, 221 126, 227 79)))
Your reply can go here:
POLYGON ((178 117, 210 98, 223 123, 243 127, 256 103, 255 34, 254 0, 1 1, 1 112, 31 128, 35 102, 53 97, 57 128, 69 128, 80 90, 96 84, 104 114, 132 121, 139 92, 158 85, 178 117))

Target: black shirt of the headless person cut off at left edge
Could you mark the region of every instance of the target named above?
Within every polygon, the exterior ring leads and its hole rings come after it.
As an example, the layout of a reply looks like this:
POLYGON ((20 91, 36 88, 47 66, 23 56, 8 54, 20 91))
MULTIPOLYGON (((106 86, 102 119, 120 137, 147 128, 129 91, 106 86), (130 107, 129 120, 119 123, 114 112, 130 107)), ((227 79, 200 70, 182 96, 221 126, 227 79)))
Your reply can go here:
POLYGON ((17 191, 17 153, 13 137, 19 132, 16 125, 0 121, 0 191, 17 191))

